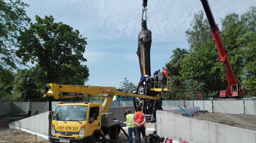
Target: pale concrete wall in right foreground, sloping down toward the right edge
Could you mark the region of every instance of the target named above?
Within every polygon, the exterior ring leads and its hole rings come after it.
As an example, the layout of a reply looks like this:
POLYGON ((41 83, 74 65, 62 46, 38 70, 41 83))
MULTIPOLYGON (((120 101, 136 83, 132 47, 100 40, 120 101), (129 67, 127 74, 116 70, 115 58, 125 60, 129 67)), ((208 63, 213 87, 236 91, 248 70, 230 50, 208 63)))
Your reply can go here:
POLYGON ((157 134, 190 143, 256 143, 256 131, 156 111, 157 134))

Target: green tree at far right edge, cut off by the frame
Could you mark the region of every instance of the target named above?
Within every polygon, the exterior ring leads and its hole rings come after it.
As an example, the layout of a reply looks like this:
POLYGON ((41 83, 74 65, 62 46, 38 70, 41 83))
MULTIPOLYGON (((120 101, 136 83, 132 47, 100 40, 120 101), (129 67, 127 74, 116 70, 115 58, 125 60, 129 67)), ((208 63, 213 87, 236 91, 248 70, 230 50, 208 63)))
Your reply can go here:
POLYGON ((244 80, 243 85, 248 90, 248 96, 256 94, 256 6, 251 6, 245 14, 241 16, 244 24, 245 34, 238 39, 238 45, 244 50, 244 67, 242 69, 244 80))

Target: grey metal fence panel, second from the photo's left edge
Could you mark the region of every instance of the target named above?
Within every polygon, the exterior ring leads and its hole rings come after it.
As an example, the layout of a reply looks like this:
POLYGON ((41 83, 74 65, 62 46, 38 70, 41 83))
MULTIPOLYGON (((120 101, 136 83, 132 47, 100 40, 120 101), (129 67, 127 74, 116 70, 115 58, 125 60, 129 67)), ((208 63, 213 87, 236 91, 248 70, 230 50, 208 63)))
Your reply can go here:
POLYGON ((12 113, 28 113, 29 102, 12 102, 12 113))

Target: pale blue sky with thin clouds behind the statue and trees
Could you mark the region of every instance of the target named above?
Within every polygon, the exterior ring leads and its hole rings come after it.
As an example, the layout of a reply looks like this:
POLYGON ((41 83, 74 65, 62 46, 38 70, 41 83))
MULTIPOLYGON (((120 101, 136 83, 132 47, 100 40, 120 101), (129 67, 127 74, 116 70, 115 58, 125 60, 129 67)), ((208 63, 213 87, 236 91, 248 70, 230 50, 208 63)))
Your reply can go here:
MULTIPOLYGON (((140 66, 136 51, 142 0, 22 1, 30 5, 25 11, 33 23, 35 15, 42 19, 53 16, 54 22, 70 25, 80 31, 82 37, 87 37, 84 53, 87 61, 82 63, 87 65, 90 74, 86 85, 120 88, 124 78, 138 84, 140 66)), ((256 5, 256 0, 208 2, 217 24, 227 14, 242 15, 256 5)), ((200 10, 203 10, 200 0, 148 0, 147 26, 152 31, 151 74, 165 67, 177 47, 189 49, 185 31, 200 10)))

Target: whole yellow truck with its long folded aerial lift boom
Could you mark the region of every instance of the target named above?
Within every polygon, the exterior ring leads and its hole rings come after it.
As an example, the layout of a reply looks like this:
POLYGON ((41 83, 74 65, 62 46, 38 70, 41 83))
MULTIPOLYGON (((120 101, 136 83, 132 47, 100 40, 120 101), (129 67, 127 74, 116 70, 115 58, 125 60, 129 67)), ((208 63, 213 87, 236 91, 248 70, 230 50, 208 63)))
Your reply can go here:
POLYGON ((44 96, 54 99, 106 97, 101 106, 90 102, 58 104, 52 118, 50 142, 96 143, 104 135, 109 135, 110 139, 118 139, 122 122, 114 120, 113 114, 108 113, 114 95, 161 100, 163 94, 158 92, 156 96, 146 96, 118 92, 115 87, 46 84, 44 96))

